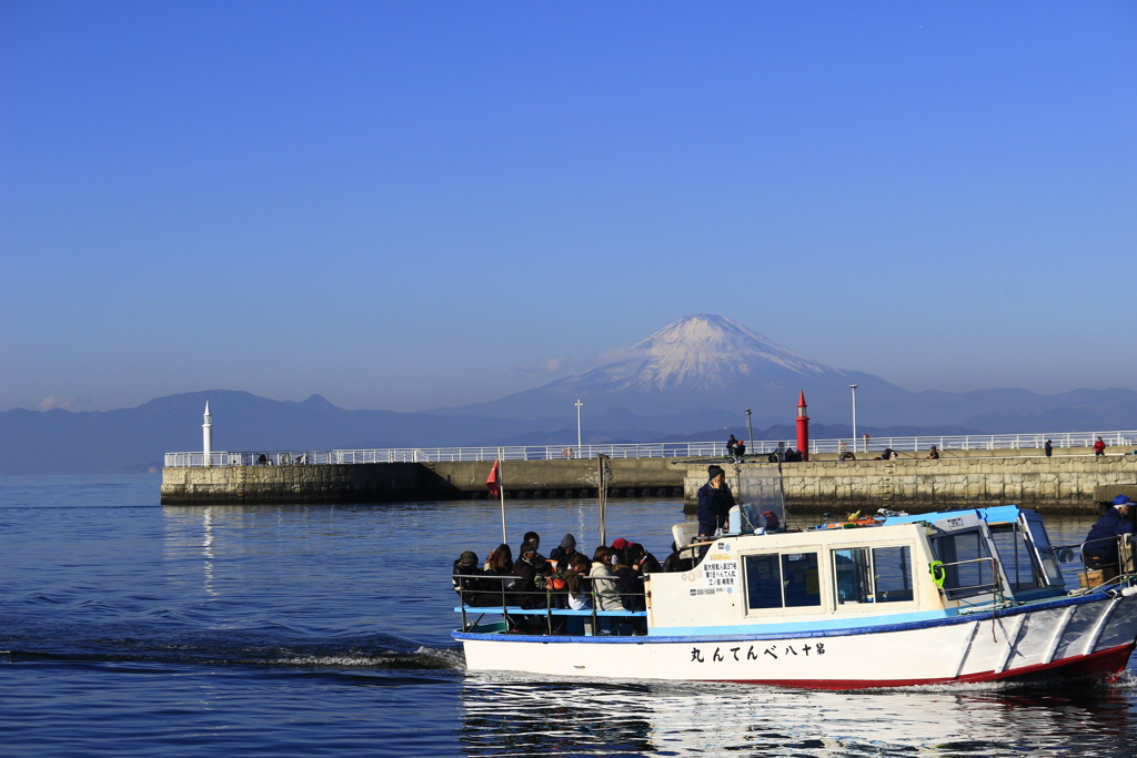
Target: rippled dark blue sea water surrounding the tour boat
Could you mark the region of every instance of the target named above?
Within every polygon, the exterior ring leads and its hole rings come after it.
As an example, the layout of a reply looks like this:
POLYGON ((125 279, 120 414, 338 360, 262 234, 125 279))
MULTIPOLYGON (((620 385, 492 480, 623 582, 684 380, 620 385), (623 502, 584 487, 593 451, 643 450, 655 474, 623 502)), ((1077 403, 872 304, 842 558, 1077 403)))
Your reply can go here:
MULTIPOLYGON (((3 755, 1137 756, 1134 661, 1113 684, 862 693, 466 675, 447 575, 499 541, 496 503, 161 507, 158 485, 0 477, 3 755)), ((609 511, 609 539, 661 558, 683 518, 609 511)), ((597 540, 591 501, 508 516, 515 545, 597 540)))

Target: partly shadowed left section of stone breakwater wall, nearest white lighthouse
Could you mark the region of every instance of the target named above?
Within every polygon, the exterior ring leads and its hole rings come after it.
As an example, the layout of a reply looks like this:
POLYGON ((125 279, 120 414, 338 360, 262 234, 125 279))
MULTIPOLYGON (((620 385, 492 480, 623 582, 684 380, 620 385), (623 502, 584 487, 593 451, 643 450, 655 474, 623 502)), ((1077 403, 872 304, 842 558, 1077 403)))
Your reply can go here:
MULTIPOLYGON (((611 458, 609 497, 682 494, 669 458, 611 458)), ((167 467, 163 505, 407 502, 488 497, 492 461, 167 467)), ((507 460, 506 498, 596 497, 596 460, 507 460)))

